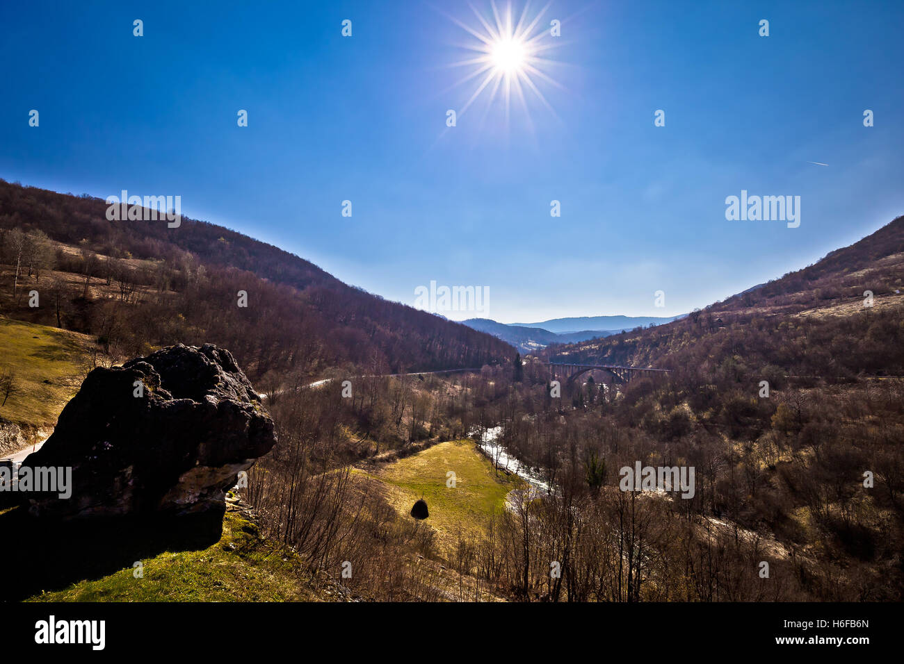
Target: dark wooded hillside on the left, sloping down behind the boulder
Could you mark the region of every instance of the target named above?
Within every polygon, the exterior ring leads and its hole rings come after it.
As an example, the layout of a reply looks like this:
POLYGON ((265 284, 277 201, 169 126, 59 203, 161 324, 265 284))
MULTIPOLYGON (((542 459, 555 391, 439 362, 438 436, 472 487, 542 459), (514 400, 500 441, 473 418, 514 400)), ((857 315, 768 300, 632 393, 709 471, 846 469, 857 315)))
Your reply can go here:
POLYGON ((513 356, 491 335, 345 285, 230 229, 185 218, 172 229, 165 220, 110 221, 107 209, 101 199, 0 181, 0 313, 97 335, 119 357, 216 343, 255 379, 343 366, 480 367, 513 356), (39 306, 29 305, 32 291, 39 306))

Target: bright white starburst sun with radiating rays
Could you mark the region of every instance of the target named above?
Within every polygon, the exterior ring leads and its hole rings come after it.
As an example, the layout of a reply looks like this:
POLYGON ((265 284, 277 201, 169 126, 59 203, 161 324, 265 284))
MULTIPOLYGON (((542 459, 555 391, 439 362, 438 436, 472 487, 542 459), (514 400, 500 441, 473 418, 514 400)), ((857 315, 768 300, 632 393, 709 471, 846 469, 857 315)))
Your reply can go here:
POLYGON ((497 98, 501 98, 506 118, 513 97, 525 112, 528 108, 528 98, 535 98, 555 115, 549 101, 538 87, 538 83, 542 81, 561 88, 560 84, 544 71, 550 70, 556 64, 555 61, 542 57, 544 51, 552 49, 557 42, 551 33, 550 19, 543 20, 543 14, 549 5, 535 16, 529 16, 528 5, 525 4, 517 21, 512 15, 511 4, 504 5, 500 11, 500 6, 496 5, 495 0, 491 0, 489 7, 492 16, 487 17, 471 5, 479 23, 476 26, 449 16, 472 38, 470 42, 458 44, 461 48, 471 51, 472 55, 451 65, 471 68, 455 87, 468 81, 472 81, 476 86, 466 104, 457 110, 458 117, 464 115, 484 91, 488 95, 488 107, 492 106, 497 98))

